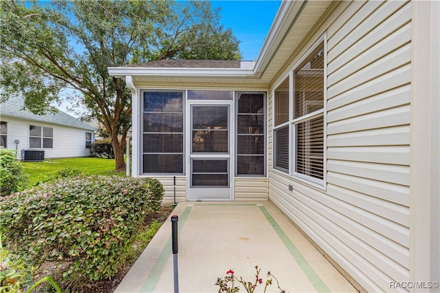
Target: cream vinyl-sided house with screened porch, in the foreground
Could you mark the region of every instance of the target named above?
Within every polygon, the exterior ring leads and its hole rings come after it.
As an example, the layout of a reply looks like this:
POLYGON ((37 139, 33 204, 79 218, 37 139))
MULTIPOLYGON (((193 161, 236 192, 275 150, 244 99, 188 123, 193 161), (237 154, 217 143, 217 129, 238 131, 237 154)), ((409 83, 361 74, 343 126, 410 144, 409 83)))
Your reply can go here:
POLYGON ((269 199, 358 287, 439 292, 439 27, 438 1, 285 1, 256 62, 110 67, 132 175, 269 199))

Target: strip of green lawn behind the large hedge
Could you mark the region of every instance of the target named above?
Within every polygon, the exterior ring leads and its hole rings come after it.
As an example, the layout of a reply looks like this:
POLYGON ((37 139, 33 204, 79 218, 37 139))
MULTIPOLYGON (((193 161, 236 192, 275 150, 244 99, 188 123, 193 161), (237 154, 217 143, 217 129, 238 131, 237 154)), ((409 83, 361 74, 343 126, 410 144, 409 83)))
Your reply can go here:
POLYGON ((115 171, 114 159, 100 158, 66 158, 47 159, 43 162, 21 162, 25 174, 28 174, 28 186, 32 186, 43 174, 63 168, 79 169, 86 175, 119 175, 125 176, 126 172, 115 171))

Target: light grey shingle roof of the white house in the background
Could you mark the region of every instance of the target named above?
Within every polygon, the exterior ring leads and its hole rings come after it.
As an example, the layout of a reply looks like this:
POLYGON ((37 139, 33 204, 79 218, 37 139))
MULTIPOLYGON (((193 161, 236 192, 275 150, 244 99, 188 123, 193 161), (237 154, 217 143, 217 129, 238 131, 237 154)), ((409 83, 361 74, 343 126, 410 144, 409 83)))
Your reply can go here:
POLYGON ((80 129, 96 130, 96 128, 74 118, 69 114, 58 110, 57 113, 46 113, 45 115, 36 115, 29 110, 23 110, 23 98, 21 96, 15 96, 9 98, 6 102, 0 104, 1 116, 10 116, 14 118, 22 118, 25 120, 35 120, 40 122, 47 122, 53 124, 67 125, 70 127, 76 127, 80 129))

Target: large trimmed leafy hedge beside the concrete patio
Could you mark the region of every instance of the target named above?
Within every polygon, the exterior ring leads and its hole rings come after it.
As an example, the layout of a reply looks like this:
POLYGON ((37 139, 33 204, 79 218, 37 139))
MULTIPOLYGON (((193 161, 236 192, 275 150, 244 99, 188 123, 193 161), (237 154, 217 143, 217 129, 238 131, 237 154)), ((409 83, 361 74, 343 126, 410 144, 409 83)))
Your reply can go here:
POLYGON ((153 179, 83 175, 54 180, 0 202, 5 243, 30 265, 62 268, 62 287, 113 276, 124 266, 149 209, 157 210, 162 185, 153 179))

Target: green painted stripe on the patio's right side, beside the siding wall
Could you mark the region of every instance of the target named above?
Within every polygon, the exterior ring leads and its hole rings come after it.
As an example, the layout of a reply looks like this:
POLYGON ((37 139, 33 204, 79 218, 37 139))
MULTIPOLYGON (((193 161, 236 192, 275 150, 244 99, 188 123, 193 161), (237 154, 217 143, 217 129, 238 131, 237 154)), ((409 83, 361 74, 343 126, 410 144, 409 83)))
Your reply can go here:
POLYGON ((307 276, 307 279, 309 279, 311 285, 313 285, 317 292, 331 292, 329 290, 329 287, 325 285, 324 281, 316 274, 315 270, 311 268, 311 265, 307 262, 307 260, 303 257, 303 254, 299 252, 298 248, 296 248, 295 244, 292 242, 292 240, 287 237, 286 233, 283 231, 283 229, 276 223, 274 217, 270 215, 270 213, 266 210, 266 208, 263 206, 263 204, 257 204, 257 206, 260 208, 261 213, 265 215, 267 221, 271 224, 272 228, 274 228, 276 234, 278 234, 278 237, 280 237, 281 241, 283 241, 284 245, 286 246, 287 250, 289 250, 290 254, 292 254, 292 257, 294 257, 296 263, 300 266, 301 270, 303 270, 304 274, 307 276))

